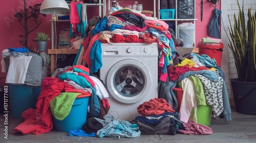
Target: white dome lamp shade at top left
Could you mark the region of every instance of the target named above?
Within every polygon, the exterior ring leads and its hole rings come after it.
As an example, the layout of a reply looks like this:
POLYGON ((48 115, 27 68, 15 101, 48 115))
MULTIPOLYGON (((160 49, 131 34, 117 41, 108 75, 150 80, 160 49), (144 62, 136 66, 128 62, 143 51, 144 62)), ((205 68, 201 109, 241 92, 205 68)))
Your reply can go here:
POLYGON ((69 12, 69 6, 64 0, 45 0, 41 4, 40 13, 63 14, 69 12))

